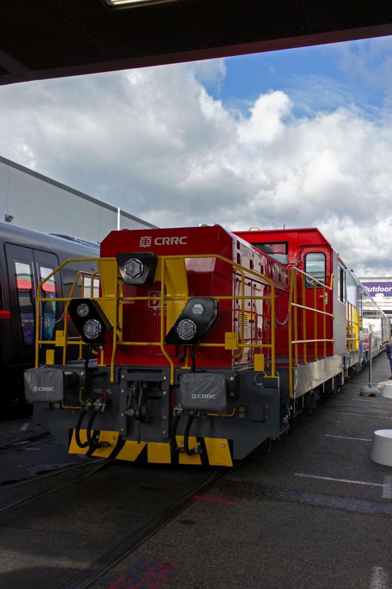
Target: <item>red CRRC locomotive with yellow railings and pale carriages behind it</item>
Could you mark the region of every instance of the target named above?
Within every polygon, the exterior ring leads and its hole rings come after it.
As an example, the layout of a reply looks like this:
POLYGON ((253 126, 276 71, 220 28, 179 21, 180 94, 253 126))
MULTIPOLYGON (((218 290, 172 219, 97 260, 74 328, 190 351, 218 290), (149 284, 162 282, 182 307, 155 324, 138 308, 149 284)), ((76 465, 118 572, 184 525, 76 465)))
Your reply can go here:
POLYGON ((37 337, 25 377, 36 419, 69 452, 232 465, 290 429, 311 396, 337 389, 389 337, 317 229, 112 231, 91 261, 99 296, 64 301, 62 364, 48 350, 38 365, 37 337), (380 332, 373 350, 369 317, 380 332), (68 362, 72 345, 78 362, 68 362))

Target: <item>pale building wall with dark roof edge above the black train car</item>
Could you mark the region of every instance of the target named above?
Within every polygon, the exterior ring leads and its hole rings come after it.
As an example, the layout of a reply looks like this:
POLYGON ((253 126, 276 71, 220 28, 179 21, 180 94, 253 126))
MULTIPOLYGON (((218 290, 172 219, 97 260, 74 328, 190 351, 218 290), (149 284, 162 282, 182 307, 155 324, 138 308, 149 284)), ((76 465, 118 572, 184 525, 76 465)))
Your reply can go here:
MULTIPOLYGON (((117 229, 117 210, 73 188, 0 157, 0 214, 12 223, 43 233, 68 233, 102 241, 117 229)), ((121 211, 120 229, 152 224, 121 211)))

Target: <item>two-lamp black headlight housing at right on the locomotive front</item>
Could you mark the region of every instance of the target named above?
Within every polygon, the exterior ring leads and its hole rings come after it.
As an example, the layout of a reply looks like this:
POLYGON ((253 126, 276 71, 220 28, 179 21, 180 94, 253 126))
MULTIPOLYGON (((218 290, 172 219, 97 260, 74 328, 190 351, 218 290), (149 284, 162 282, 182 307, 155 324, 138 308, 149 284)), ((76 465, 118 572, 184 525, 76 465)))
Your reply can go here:
POLYGON ((218 302, 212 297, 192 297, 167 333, 165 343, 198 345, 218 316, 218 302))

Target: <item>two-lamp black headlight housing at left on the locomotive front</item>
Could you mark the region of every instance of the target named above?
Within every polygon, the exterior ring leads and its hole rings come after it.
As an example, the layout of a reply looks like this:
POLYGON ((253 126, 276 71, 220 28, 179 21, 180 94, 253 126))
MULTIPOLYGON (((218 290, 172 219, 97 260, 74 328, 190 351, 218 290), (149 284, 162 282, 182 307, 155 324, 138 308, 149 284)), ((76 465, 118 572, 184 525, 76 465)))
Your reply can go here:
POLYGON ((69 315, 83 342, 113 342, 113 326, 96 300, 72 299, 69 303, 69 315))

